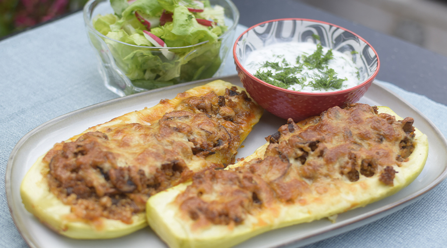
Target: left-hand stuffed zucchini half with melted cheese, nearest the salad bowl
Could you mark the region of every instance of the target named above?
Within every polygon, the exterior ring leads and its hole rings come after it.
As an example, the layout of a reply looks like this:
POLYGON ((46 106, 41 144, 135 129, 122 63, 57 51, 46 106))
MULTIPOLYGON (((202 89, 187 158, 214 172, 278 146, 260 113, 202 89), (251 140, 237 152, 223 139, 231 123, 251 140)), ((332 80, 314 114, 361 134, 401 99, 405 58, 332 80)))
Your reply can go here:
POLYGON ((75 239, 108 239, 147 226, 148 198, 224 168, 262 109, 235 85, 213 81, 57 143, 23 179, 25 208, 75 239))

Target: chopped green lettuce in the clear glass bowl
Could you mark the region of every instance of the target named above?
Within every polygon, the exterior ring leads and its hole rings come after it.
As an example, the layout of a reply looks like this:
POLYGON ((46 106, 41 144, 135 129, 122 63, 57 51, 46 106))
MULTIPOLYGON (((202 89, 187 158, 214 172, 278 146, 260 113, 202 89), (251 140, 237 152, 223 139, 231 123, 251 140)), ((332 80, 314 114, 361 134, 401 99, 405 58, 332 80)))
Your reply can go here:
POLYGON ((219 69, 221 41, 219 36, 227 30, 224 24, 224 8, 211 6, 202 1, 203 12, 190 12, 197 7, 194 0, 110 0, 115 14, 98 15, 93 27, 101 34, 120 42, 137 46, 154 47, 144 36, 145 25, 136 17, 135 11, 151 18, 159 18, 163 12, 172 14, 172 21, 162 26, 150 27, 150 33, 163 40, 167 47, 185 47, 206 42, 193 48, 171 49, 175 53, 168 60, 160 50, 132 47, 104 39, 117 66, 132 81, 134 86, 154 89, 180 82, 209 78, 219 69), (212 26, 199 24, 196 18, 213 21, 212 26))

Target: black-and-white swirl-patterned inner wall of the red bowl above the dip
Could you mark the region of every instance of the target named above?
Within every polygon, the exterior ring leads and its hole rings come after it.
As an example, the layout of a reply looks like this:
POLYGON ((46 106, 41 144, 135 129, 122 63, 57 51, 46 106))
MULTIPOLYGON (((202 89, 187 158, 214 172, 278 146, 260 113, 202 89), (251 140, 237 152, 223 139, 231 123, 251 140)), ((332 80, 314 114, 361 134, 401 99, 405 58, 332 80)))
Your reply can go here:
POLYGON ((378 67, 377 54, 364 39, 339 26, 307 19, 272 20, 248 29, 236 41, 234 59, 244 66, 252 51, 284 42, 321 43, 323 47, 351 56, 362 82, 372 77, 378 67))

